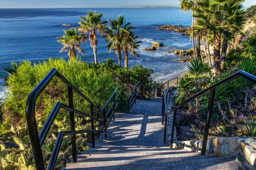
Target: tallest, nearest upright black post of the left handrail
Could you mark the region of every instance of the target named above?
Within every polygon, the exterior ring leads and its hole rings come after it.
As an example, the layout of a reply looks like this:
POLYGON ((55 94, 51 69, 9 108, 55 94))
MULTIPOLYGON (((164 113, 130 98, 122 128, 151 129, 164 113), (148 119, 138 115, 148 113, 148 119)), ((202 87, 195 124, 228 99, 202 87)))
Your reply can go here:
MULTIPOLYGON (((74 108, 74 105, 73 105, 73 88, 72 88, 72 86, 68 86, 68 104, 69 104, 70 108, 74 108)), ((70 111, 70 130, 72 130, 74 132, 76 131, 74 111, 70 111)), ((76 134, 71 135, 71 144, 72 144, 73 162, 77 162, 77 158, 76 158, 76 134)))

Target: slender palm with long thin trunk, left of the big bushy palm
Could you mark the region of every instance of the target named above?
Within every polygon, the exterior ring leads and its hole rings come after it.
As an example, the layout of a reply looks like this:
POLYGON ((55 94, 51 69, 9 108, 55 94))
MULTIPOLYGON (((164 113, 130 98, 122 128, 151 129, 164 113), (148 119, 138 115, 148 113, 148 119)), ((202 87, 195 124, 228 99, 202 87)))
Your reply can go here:
MULTIPOLYGON (((180 1, 180 9, 182 9, 184 12, 192 10, 195 3, 194 0, 179 0, 180 1)), ((194 11, 192 11, 192 26, 194 26, 194 11)), ((195 58, 195 41, 194 41, 194 30, 192 30, 192 45, 193 45, 193 54, 195 58)))

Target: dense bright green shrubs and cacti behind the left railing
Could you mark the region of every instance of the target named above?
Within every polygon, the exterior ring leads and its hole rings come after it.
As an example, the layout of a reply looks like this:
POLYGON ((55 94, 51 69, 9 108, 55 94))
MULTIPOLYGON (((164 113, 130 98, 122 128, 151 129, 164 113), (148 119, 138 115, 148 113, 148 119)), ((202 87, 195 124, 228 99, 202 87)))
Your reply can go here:
MULTIPOLYGON (((20 62, 15 72, 7 78, 9 85, 6 86, 7 97, 0 110, 0 117, 3 115, 3 123, 0 128, 0 169, 35 169, 25 123, 26 99, 52 68, 56 68, 99 108, 105 105, 117 86, 128 92, 130 91, 129 88, 135 85, 137 81, 141 81, 147 87, 153 83, 150 77, 153 73, 152 70, 143 68, 142 65, 131 69, 120 68, 111 59, 98 64, 87 64, 80 59, 68 61, 49 59, 33 65, 29 61, 20 62), (19 158, 15 158, 16 155, 19 158)), ((53 78, 36 102, 36 119, 39 131, 55 103, 62 102, 68 105, 67 99, 66 85, 58 78, 53 78)), ((73 93, 73 99, 74 108, 90 113, 88 102, 81 99, 76 93, 73 93)), ((102 119, 102 113, 96 112, 96 114, 98 114, 96 116, 99 119, 102 119)), ((68 115, 68 112, 60 111, 50 129, 42 147, 46 164, 51 156, 58 132, 70 129, 68 115)), ((89 119, 77 115, 75 119, 76 130, 90 128, 89 119)), ((99 128, 98 124, 95 126, 99 128)), ((89 139, 90 134, 77 135, 78 151, 87 149, 89 139)), ((62 168, 61 166, 69 160, 70 147, 70 136, 67 136, 62 142, 57 168, 62 168)))

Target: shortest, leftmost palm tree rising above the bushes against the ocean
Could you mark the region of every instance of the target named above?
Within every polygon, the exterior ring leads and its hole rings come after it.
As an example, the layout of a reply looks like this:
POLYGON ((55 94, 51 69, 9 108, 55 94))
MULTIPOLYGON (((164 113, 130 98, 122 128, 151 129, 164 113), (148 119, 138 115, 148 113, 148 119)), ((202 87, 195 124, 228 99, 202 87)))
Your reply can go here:
POLYGON ((63 45, 63 48, 61 48, 60 53, 63 51, 67 51, 70 47, 70 50, 68 51, 68 55, 70 59, 76 58, 76 51, 78 50, 79 53, 84 54, 84 51, 81 49, 80 43, 86 41, 87 35, 79 34, 76 28, 70 28, 69 30, 63 30, 64 35, 62 37, 57 37, 58 42, 61 42, 63 45))

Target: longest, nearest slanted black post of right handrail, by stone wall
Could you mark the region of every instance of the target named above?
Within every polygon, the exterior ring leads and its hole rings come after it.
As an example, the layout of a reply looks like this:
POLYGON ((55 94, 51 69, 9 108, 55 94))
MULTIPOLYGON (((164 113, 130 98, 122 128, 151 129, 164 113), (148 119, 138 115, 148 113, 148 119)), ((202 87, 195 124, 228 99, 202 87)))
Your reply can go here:
POLYGON ((212 107, 213 107, 213 102, 214 102, 214 96, 215 96, 215 88, 212 88, 211 92, 210 92, 210 99, 209 99, 209 104, 208 104, 207 119, 206 119, 206 125, 205 125, 205 129, 204 129, 204 139, 203 139, 203 144, 202 144, 201 155, 205 155, 205 151, 206 151, 209 127, 210 127, 210 122, 211 122, 211 118, 212 118, 212 107))

